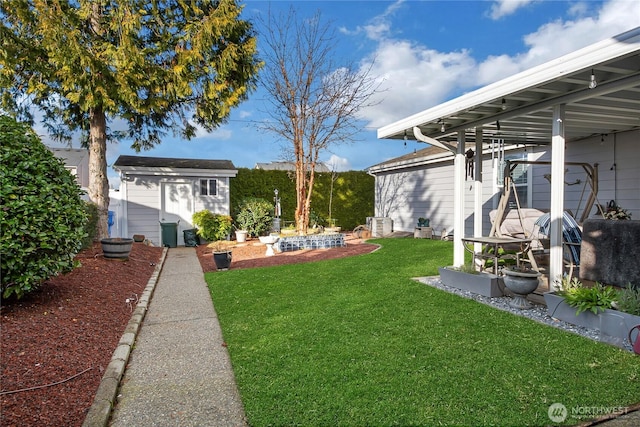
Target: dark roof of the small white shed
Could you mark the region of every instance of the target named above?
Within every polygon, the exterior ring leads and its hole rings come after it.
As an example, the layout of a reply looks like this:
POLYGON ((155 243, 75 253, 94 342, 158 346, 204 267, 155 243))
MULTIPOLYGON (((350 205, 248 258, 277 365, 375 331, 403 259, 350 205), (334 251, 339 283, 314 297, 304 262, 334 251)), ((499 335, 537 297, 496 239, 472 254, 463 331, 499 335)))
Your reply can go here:
POLYGON ((113 168, 127 173, 151 173, 155 175, 212 174, 236 176, 237 169, 231 160, 178 159, 172 157, 120 156, 113 168))

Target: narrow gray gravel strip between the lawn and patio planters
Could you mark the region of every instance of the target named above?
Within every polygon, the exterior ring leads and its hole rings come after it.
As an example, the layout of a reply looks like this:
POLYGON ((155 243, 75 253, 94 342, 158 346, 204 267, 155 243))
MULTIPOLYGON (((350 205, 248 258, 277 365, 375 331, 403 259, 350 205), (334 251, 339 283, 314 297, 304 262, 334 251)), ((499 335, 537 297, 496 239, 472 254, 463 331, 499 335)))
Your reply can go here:
POLYGON ((489 298, 483 295, 478 295, 473 292, 469 292, 466 290, 453 288, 451 286, 447 286, 440 281, 440 276, 432 276, 432 277, 418 277, 417 281, 425 283, 429 286, 433 286, 434 288, 442 289, 443 291, 450 292, 452 294, 460 295, 464 298, 469 298, 475 301, 478 301, 483 304, 490 305, 499 310, 508 311, 509 313, 515 314, 517 316, 528 317, 529 319, 535 320, 536 322, 544 323, 549 326, 553 326, 555 328, 564 329, 565 331, 581 335, 583 337, 592 339, 594 341, 606 342, 608 344, 615 345, 617 347, 624 348, 628 351, 632 351, 631 345, 628 340, 620 340, 609 337, 607 335, 601 334, 597 329, 589 329, 584 328, 582 326, 573 325, 571 323, 564 322, 562 320, 555 319, 549 316, 547 311, 547 307, 540 304, 532 303, 533 307, 526 310, 520 310, 517 308, 513 308, 509 305, 511 302, 510 296, 503 296, 497 298, 489 298))

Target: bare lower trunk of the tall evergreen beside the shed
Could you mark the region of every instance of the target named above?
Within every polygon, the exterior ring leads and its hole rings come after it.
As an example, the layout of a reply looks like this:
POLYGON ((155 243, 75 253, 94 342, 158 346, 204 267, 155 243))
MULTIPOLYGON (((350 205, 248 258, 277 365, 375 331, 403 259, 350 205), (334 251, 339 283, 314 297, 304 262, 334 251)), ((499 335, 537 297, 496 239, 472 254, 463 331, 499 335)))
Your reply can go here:
POLYGON ((109 237, 107 178, 107 118, 101 108, 89 112, 89 197, 98 207, 96 239, 109 237))

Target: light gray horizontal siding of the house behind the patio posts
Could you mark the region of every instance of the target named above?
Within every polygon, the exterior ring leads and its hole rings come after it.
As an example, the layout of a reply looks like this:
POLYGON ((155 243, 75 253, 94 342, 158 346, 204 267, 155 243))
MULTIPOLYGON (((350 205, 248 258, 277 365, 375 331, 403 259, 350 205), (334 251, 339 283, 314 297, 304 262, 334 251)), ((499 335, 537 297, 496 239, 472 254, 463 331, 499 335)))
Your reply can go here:
MULTIPOLYGON (((606 205, 616 202, 640 219, 640 131, 600 135, 588 140, 568 143, 567 162, 598 163, 598 201, 606 205), (604 141, 602 141, 604 139, 604 141), (615 164, 615 167, 613 165, 615 164), (612 168, 613 167, 613 168, 612 168)), ((528 148, 530 160, 550 161, 546 147, 528 148)), ((519 150, 522 151, 522 150, 519 150)), ((565 207, 579 215, 586 202, 589 189, 585 188, 585 175, 579 166, 567 166, 565 207), (575 184, 577 180, 580 183, 575 184)), ((491 156, 483 162, 483 234, 491 229, 489 212, 499 199, 496 193, 491 156)), ((531 165, 531 204, 529 207, 548 211, 551 184, 545 178, 551 166, 531 165)), ((420 167, 376 174, 376 216, 388 216, 394 221, 394 230, 412 232, 419 217, 431 219, 435 235, 451 231, 453 226, 453 159, 420 167)), ((465 235, 473 235, 474 182, 465 185, 465 235)), ((591 216, 595 209, 591 212, 591 216)))

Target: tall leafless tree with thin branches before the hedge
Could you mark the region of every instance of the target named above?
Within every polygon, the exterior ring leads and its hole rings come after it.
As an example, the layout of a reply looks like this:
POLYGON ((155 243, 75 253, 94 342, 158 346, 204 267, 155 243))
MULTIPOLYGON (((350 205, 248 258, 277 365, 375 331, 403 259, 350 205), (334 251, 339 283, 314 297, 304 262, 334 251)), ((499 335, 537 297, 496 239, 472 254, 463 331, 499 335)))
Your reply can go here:
POLYGON ((262 127, 288 143, 296 165, 296 228, 304 234, 320 156, 353 141, 361 129, 357 113, 370 105, 377 83, 370 68, 334 63, 335 32, 319 12, 300 19, 291 8, 288 14, 269 14, 261 24, 265 68, 259 82, 271 107, 271 120, 262 127))

